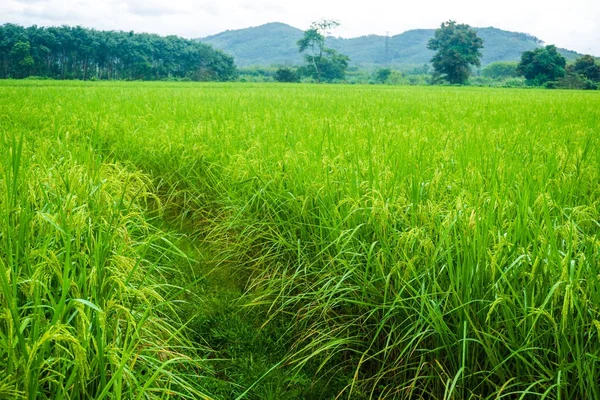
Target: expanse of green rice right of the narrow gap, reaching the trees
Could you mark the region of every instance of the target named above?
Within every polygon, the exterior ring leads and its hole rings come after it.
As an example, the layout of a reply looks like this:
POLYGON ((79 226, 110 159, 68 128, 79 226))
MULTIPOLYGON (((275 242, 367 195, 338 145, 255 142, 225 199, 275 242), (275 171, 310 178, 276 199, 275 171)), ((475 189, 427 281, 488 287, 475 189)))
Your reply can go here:
POLYGON ((600 398, 596 93, 2 90, 23 129, 50 115, 35 128, 149 175, 249 278, 265 323, 289 321, 282 368, 339 398, 600 398))

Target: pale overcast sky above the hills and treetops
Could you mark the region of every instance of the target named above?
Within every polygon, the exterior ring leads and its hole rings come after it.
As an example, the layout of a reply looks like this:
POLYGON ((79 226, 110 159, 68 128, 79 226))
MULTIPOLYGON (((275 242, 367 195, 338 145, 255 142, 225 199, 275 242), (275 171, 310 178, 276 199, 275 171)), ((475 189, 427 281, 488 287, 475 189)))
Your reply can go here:
POLYGON ((0 0, 0 23, 204 37, 285 22, 306 29, 337 19, 336 36, 391 35, 454 19, 474 27, 527 32, 547 44, 600 56, 600 0, 0 0))

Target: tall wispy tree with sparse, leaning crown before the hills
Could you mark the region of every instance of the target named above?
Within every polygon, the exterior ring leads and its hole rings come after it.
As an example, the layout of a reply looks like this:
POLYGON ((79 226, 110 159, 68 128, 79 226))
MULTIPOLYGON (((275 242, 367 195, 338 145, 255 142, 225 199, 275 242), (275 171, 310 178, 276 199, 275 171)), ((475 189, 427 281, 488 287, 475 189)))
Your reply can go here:
POLYGON ((348 69, 348 56, 325 47, 325 34, 337 28, 339 22, 322 20, 313 22, 304 32, 302 39, 298 40, 298 51, 305 53, 304 59, 307 67, 302 68, 304 75, 312 76, 318 83, 322 80, 342 80, 348 69), (310 72, 309 72, 310 71, 310 72))

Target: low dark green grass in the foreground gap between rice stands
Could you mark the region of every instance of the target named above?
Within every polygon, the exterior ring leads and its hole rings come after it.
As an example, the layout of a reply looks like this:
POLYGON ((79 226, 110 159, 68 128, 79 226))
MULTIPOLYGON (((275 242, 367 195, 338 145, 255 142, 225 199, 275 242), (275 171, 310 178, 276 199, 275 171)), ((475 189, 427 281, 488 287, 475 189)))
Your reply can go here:
MULTIPOLYGON (((218 249, 219 244, 213 247, 218 249)), ((227 272, 223 265, 204 271, 207 279, 198 288, 204 304, 190 323, 197 342, 210 343, 215 352, 215 374, 226 377, 210 382, 205 390, 215 400, 335 398, 343 385, 317 379, 318 366, 297 371, 285 365, 298 332, 285 318, 265 325, 267 308, 256 307, 253 296, 244 295, 244 282, 232 285, 236 278, 228 273, 235 271, 227 272)))

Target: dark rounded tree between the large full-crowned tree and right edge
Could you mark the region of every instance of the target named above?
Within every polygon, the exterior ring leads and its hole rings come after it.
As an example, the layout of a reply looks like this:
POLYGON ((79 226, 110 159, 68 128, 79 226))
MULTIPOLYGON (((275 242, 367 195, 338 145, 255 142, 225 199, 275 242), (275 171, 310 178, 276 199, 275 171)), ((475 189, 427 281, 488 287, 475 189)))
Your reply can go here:
POLYGON ((567 60, 550 45, 524 52, 518 71, 530 85, 541 86, 565 76, 566 65, 567 60))

